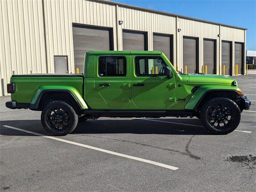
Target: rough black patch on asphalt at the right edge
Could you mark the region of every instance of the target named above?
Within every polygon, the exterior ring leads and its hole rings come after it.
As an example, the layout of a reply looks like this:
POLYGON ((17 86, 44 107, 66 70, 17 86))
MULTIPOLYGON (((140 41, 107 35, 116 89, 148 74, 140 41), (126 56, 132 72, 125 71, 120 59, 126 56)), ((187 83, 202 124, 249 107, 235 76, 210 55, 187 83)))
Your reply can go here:
POLYGON ((256 156, 252 155, 245 155, 245 156, 230 156, 227 158, 228 162, 236 162, 239 163, 241 166, 249 166, 249 168, 256 167, 256 156))

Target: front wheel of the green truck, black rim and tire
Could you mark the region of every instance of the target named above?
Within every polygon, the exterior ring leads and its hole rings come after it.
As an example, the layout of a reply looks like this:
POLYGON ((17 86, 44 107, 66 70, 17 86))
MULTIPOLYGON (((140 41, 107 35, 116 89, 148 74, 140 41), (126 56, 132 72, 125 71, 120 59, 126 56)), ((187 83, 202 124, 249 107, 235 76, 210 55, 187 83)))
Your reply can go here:
POLYGON ((233 100, 216 97, 210 99, 201 108, 200 119, 210 132, 228 134, 240 123, 241 112, 233 100))

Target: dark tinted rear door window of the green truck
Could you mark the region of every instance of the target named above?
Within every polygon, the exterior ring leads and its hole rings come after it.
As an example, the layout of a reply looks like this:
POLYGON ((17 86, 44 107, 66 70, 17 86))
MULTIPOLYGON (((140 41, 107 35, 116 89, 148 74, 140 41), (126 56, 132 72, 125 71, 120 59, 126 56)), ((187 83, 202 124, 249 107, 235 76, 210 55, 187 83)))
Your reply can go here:
POLYGON ((126 76, 126 58, 119 56, 99 57, 98 74, 102 77, 126 76))

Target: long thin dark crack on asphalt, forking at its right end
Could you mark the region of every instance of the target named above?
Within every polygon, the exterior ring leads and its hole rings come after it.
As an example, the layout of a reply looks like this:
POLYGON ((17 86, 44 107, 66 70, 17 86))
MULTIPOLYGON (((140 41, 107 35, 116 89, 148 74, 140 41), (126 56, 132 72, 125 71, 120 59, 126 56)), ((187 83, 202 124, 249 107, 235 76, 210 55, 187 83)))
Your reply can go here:
POLYGON ((179 151, 179 150, 173 150, 173 149, 168 149, 168 148, 162 148, 162 147, 152 146, 152 145, 148 145, 148 144, 142 144, 142 143, 138 143, 138 142, 120 140, 120 139, 106 138, 106 137, 100 137, 100 136, 82 135, 82 134, 76 134, 76 135, 81 135, 81 136, 86 136, 86 137, 93 137, 93 138, 110 139, 110 140, 115 140, 115 141, 128 142, 128 143, 132 143, 132 144, 139 144, 139 145, 142 145, 142 146, 153 147, 153 148, 157 148, 157 149, 161 149, 161 150, 166 150, 166 151, 170 151, 170 152, 179 153, 179 154, 182 154, 182 155, 187 155, 187 156, 189 156, 190 158, 193 158, 193 159, 196 159, 196 160, 201 159, 200 157, 191 154, 191 152, 188 150, 188 147, 189 147, 189 144, 190 144, 192 138, 190 138, 190 140, 189 140, 188 143, 186 144, 186 147, 185 147, 186 152, 181 152, 181 151, 179 151))

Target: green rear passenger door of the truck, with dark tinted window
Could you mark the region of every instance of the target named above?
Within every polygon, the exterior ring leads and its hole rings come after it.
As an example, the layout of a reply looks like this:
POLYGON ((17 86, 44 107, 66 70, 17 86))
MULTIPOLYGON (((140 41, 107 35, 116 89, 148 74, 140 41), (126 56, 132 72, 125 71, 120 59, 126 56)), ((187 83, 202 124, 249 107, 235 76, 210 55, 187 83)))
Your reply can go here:
POLYGON ((130 105, 130 59, 127 55, 96 56, 95 88, 110 107, 130 105))

